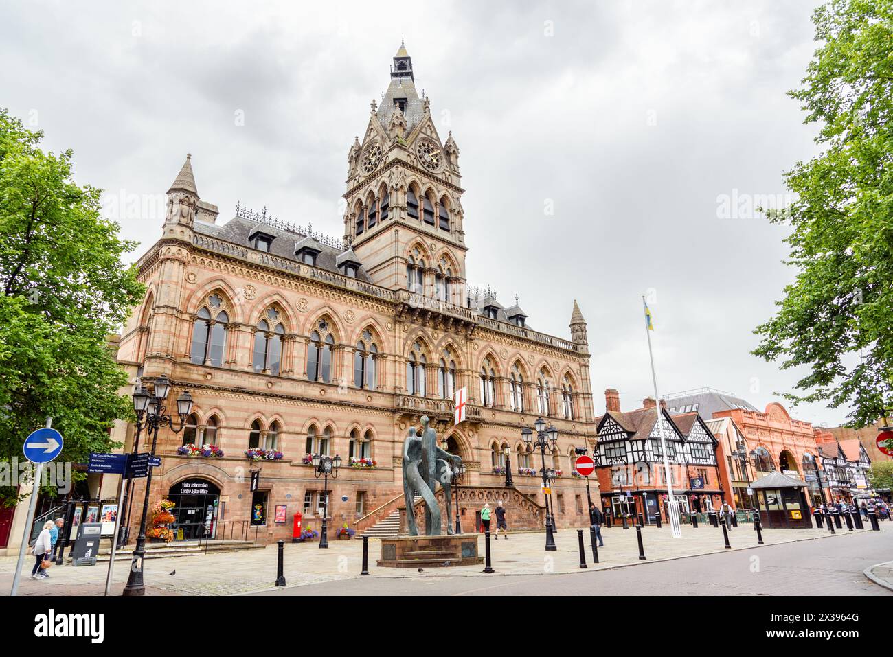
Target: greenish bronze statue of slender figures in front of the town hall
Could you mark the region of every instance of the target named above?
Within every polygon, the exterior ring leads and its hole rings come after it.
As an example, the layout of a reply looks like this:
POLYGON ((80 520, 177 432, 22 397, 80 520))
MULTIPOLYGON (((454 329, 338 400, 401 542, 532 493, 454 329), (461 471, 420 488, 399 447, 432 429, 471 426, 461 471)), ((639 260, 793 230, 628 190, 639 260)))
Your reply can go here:
POLYGON ((462 459, 438 447, 437 432, 430 426, 427 415, 421 418, 421 425, 421 436, 417 434, 415 427, 411 427, 403 444, 403 493, 407 530, 409 536, 419 536, 413 500, 415 495, 421 495, 425 503, 425 535, 440 536, 440 507, 434 496, 437 482, 440 481, 447 501, 447 534, 453 534, 453 512, 449 503, 453 469, 450 464, 458 466, 462 459))

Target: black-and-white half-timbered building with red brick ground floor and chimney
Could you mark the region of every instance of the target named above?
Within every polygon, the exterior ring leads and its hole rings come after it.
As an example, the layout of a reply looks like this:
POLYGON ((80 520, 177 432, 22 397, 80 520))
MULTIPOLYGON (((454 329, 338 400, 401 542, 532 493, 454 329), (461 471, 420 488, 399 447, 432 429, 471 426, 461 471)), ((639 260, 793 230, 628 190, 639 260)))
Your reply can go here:
POLYGON ((605 510, 614 517, 644 513, 646 522, 654 521, 658 512, 666 517, 663 445, 680 511, 708 511, 722 503, 717 441, 697 412, 674 415, 650 398, 636 411, 621 412, 611 388, 605 400, 605 415, 596 420, 594 453, 605 510))

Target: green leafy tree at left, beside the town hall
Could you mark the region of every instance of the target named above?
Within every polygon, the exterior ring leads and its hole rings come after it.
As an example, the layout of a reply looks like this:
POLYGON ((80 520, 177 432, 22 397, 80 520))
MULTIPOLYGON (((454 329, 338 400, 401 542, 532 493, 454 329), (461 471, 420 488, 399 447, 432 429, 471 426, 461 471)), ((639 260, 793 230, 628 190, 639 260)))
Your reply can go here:
MULTIPOLYGON (((0 109, 0 461, 21 461, 52 416, 58 460, 86 462, 132 413, 109 336, 144 288, 121 261, 136 245, 100 216, 102 190, 79 187, 71 151, 45 153, 42 137, 0 109)), ((18 499, 0 488, 0 504, 18 499)))

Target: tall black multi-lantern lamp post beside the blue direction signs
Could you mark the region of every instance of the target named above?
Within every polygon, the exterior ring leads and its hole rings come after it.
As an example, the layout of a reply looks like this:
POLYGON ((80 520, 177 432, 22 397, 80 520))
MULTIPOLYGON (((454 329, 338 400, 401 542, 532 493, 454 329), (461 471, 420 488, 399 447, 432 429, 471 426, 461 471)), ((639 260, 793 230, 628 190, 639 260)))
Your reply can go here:
MULTIPOLYGON (((146 387, 139 385, 133 391, 133 410, 137 412, 137 431, 146 428, 146 437, 152 437, 152 451, 154 457, 155 447, 158 445, 158 429, 170 427, 171 431, 179 434, 186 425, 189 412, 192 411, 192 395, 184 390, 177 397, 177 414, 179 426, 174 427, 170 415, 165 414, 164 400, 171 391, 171 381, 164 375, 155 379, 152 393, 146 391, 146 387)), ((143 497, 143 515, 139 520, 139 536, 137 547, 133 551, 133 561, 130 561, 130 574, 127 578, 127 586, 124 586, 123 595, 146 595, 146 585, 143 583, 143 557, 146 556, 146 514, 149 512, 149 491, 152 488, 152 471, 150 466, 146 475, 146 495, 143 497)), ((119 511, 121 512, 121 511, 119 511)))

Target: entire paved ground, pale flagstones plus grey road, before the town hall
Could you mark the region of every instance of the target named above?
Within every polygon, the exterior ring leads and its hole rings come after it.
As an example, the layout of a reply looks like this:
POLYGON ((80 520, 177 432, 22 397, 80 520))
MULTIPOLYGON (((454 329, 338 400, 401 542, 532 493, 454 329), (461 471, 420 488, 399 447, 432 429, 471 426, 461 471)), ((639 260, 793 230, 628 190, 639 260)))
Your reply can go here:
MULTIPOLYGON (((591 561, 586 539, 588 570, 579 568, 576 531, 563 529, 556 535, 558 551, 543 550, 542 532, 513 534, 493 541, 493 575, 480 566, 425 570, 378 568, 380 542, 370 541, 369 577, 359 577, 361 541, 330 541, 329 550, 316 543, 285 546, 285 577, 288 586, 277 594, 319 593, 512 593, 554 590, 562 593, 655 594, 672 593, 759 593, 822 594, 849 592, 856 595, 887 595, 872 584, 862 570, 893 554, 893 523, 881 523, 880 533, 863 531, 836 536, 818 529, 767 529, 764 546, 757 547, 750 526, 730 532, 732 550, 722 542, 722 530, 702 525, 683 527, 683 536, 673 539, 667 527, 643 529, 647 561, 638 560, 634 529, 604 530, 605 548, 600 562, 591 561), (697 556, 696 555, 706 555, 697 556), (693 557, 686 559, 685 557, 693 557), (751 559, 759 570, 751 573, 751 559), (625 566, 630 566, 626 568, 625 566), (601 569, 600 571, 597 569, 601 569), (609 570, 614 569, 614 570, 609 570), (654 576, 652 576, 654 574, 654 576), (646 577, 648 575, 648 577, 646 577), (511 576, 511 577, 508 577, 511 576), (665 586, 655 584, 665 582, 665 586), (371 583, 373 582, 373 583, 371 583), (597 584, 593 585, 593 582, 597 584), (544 588, 544 586, 546 588, 544 588), (805 587, 805 589, 803 589, 805 587)), ((483 538, 479 537, 483 553, 483 538)), ((276 575, 275 545, 265 549, 207 555, 146 559, 149 595, 240 595, 262 593, 272 588, 276 575), (171 574, 173 573, 173 574, 171 574)), ((21 595, 102 595, 106 564, 74 568, 54 567, 51 578, 32 581, 28 570, 21 581, 21 595)), ((0 558, 0 592, 8 593, 15 559, 0 558)), ((128 575, 129 561, 116 561, 113 592, 118 593, 128 575)))

